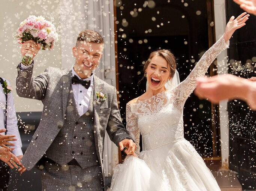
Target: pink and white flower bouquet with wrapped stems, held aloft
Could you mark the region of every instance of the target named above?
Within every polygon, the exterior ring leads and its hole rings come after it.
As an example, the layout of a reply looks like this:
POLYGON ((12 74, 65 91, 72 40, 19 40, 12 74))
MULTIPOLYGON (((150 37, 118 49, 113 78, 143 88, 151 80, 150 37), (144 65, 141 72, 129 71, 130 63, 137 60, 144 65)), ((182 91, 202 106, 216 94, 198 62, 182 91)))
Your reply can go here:
MULTIPOLYGON (((58 40, 58 34, 56 32, 55 26, 46 21, 42 16, 30 15, 27 19, 19 24, 18 43, 22 44, 28 40, 34 40, 36 43, 40 43, 42 50, 50 50, 53 48, 55 42, 58 40)), ((22 59, 24 62, 30 62, 30 55, 25 55, 22 59)), ((22 62, 22 63, 24 63, 22 62)))

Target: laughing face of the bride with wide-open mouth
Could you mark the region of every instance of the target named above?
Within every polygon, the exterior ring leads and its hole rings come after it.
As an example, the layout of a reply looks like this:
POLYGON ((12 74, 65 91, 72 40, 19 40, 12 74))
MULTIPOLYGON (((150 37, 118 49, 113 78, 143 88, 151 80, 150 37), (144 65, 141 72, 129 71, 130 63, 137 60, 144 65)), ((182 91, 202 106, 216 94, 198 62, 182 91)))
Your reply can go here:
POLYGON ((164 88, 168 79, 171 79, 169 65, 162 56, 154 56, 147 69, 148 87, 151 90, 159 90, 164 88))

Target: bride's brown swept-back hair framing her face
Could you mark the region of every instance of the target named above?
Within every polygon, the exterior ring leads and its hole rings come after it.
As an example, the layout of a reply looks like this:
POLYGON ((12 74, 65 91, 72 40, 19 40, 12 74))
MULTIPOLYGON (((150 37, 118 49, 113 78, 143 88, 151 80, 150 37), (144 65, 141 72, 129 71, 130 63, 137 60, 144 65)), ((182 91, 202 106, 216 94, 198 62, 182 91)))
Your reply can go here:
MULTIPOLYGON (((166 49, 160 49, 160 50, 156 50, 156 51, 153 51, 150 53, 148 60, 145 62, 145 65, 143 68, 144 74, 146 74, 146 69, 148 68, 148 65, 149 65, 151 59, 155 56, 161 56, 166 60, 166 62, 168 64, 168 71, 170 72, 170 77, 173 78, 173 76, 175 74, 175 70, 176 70, 176 58, 170 50, 166 50, 166 49)), ((143 76, 143 78, 144 78, 144 76, 143 76)))

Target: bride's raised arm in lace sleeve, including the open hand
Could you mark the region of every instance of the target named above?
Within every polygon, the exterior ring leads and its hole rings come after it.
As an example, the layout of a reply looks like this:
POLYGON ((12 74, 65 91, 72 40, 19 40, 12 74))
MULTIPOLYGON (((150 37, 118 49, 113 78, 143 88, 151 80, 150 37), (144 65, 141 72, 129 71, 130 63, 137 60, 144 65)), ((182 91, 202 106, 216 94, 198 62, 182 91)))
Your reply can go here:
MULTIPOLYGON (((216 59, 216 57, 226 48, 229 47, 229 39, 232 37, 235 30, 241 28, 246 25, 249 15, 244 12, 239 15, 236 19, 232 16, 226 25, 225 33, 220 37, 220 39, 207 50, 201 59, 196 64, 195 68, 190 72, 189 76, 181 82, 174 91, 177 91, 175 94, 178 103, 183 103, 189 97, 189 95, 196 88, 196 80, 204 76, 207 72, 207 69, 211 65, 211 63, 216 59)), ((183 108, 181 104, 180 108, 183 108)))

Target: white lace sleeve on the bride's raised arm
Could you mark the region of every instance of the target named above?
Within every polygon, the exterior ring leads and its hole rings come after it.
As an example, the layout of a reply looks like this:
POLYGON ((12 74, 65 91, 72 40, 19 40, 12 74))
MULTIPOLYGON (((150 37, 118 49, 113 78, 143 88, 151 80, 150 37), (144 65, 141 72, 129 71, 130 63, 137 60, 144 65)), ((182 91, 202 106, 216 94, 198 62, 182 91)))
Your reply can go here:
POLYGON ((204 53, 189 76, 174 89, 174 100, 179 110, 183 109, 186 99, 195 90, 196 79, 204 76, 214 59, 228 47, 229 41, 225 42, 224 37, 220 37, 220 39, 204 53))

